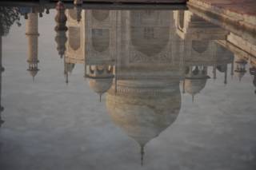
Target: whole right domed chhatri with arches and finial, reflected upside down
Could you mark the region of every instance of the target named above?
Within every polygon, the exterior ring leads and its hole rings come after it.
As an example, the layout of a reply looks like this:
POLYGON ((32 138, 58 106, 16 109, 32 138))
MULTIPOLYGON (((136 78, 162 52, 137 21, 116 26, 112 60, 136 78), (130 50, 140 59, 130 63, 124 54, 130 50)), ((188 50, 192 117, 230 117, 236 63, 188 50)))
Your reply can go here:
POLYGON ((186 68, 186 75, 183 81, 183 93, 189 93, 192 95, 192 101, 194 96, 200 93, 206 86, 207 79, 206 66, 190 66, 186 68))

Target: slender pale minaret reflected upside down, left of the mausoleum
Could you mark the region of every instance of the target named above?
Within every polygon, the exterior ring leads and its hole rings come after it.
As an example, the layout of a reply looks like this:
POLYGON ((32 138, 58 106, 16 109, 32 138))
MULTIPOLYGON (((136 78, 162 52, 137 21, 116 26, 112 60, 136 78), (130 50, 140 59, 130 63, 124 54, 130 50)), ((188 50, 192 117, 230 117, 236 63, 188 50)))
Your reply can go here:
POLYGON ((27 69, 31 76, 38 73, 38 13, 29 13, 26 20, 26 38, 28 40, 28 59, 29 68, 27 69))

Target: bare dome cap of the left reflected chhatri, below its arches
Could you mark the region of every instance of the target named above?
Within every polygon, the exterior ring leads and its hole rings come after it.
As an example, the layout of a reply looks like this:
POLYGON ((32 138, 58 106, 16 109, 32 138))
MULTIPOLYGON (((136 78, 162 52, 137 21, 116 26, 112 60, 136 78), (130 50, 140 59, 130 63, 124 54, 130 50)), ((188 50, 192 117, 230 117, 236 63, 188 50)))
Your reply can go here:
POLYGON ((89 78, 90 89, 93 89, 94 92, 98 94, 106 93, 110 89, 113 83, 112 77, 106 78, 89 78))

